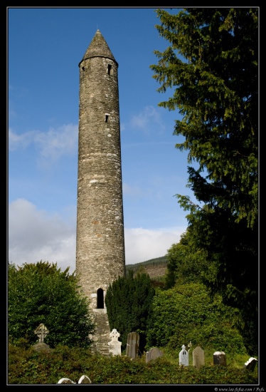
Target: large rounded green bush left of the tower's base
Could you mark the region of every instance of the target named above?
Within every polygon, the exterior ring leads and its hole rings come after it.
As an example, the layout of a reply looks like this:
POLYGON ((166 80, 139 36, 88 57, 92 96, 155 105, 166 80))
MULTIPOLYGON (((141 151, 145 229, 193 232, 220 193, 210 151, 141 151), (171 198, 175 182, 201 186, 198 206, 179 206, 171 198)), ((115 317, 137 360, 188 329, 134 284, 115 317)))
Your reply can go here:
POLYGON ((36 344, 35 329, 49 330, 45 343, 89 347, 95 326, 87 300, 79 293, 75 274, 61 271, 57 264, 9 264, 8 332, 13 344, 27 339, 36 344))

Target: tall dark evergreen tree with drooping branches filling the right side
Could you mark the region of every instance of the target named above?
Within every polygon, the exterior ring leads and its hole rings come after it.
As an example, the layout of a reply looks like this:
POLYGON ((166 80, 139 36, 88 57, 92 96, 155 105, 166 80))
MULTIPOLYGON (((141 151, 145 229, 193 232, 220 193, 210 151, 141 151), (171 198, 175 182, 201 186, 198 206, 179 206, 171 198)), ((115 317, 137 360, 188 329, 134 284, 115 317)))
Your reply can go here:
POLYGON ((250 354, 258 342, 258 9, 158 9, 159 34, 169 41, 151 66, 159 103, 179 110, 174 135, 188 150, 191 253, 206 254, 205 284, 242 314, 250 354), (198 168, 196 168, 198 165, 198 168))

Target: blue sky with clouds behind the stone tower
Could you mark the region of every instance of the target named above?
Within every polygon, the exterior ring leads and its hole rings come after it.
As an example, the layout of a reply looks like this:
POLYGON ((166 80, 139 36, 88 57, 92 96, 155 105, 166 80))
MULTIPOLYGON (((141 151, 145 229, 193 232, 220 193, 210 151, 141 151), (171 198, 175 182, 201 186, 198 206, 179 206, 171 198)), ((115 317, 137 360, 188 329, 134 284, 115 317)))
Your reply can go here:
MULTIPOLYGON (((169 9, 176 13, 177 9, 169 9)), ((166 254, 186 231, 174 195, 193 194, 178 111, 159 108, 159 37, 149 8, 9 8, 9 261, 75 269, 79 69, 97 29, 119 64, 126 264, 166 254)))

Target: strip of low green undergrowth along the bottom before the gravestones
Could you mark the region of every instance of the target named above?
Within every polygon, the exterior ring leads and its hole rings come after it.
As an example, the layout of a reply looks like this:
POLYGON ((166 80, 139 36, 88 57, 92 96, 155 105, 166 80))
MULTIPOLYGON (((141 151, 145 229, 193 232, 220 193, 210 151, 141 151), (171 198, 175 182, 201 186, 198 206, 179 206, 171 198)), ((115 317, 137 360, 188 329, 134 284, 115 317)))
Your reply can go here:
POLYGON ((52 351, 37 352, 24 342, 9 344, 8 381, 17 384, 56 384, 66 377, 78 383, 83 374, 92 384, 252 384, 257 385, 254 371, 243 368, 248 357, 227 357, 227 366, 213 365, 213 353, 206 353, 205 365, 195 368, 192 355, 189 366, 179 366, 179 356, 167 353, 146 363, 145 356, 129 359, 121 356, 93 355, 89 349, 57 346, 52 351))

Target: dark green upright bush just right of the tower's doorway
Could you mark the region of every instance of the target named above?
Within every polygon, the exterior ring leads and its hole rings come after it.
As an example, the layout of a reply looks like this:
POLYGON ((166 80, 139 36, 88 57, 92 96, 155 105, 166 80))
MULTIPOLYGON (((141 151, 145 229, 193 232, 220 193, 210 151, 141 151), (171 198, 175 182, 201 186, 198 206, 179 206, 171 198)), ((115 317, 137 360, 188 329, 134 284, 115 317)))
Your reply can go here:
POLYGON ((155 290, 146 272, 129 270, 126 277, 118 277, 107 289, 105 304, 110 329, 117 329, 122 349, 127 346, 127 335, 139 332, 142 340, 139 349, 144 348, 147 323, 150 318, 151 301, 155 290))

